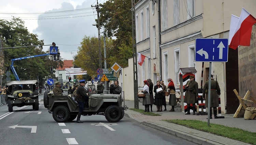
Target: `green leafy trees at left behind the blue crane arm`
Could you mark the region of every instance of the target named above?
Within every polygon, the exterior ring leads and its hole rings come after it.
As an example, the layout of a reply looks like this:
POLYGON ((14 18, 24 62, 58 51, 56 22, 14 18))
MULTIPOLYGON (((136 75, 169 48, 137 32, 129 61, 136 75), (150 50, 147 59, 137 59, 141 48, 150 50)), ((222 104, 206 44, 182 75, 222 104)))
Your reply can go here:
MULTIPOLYGON (((0 19, 0 37, 3 48, 44 45, 43 40, 39 40, 36 34, 28 32, 24 21, 20 18, 13 17, 10 21, 0 19)), ((45 54, 42 49, 42 46, 4 49, 4 71, 11 70, 12 59, 45 54)), ((39 78, 40 85, 43 85, 47 77, 50 76, 50 66, 57 67, 57 63, 52 61, 50 55, 14 61, 14 68, 20 80, 37 80, 39 78)))

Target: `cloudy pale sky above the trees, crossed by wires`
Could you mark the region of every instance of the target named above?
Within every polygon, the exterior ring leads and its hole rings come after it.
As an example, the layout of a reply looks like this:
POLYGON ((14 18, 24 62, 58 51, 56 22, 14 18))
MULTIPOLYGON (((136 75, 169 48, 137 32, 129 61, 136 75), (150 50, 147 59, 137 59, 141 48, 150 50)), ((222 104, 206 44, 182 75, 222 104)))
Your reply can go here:
MULTIPOLYGON (((104 3, 106 0, 98 0, 104 3)), ((84 36, 98 37, 97 0, 1 0, 0 19, 20 17, 45 45, 55 42, 61 58, 73 60, 84 36)), ((44 51, 49 46, 43 47, 44 51)))

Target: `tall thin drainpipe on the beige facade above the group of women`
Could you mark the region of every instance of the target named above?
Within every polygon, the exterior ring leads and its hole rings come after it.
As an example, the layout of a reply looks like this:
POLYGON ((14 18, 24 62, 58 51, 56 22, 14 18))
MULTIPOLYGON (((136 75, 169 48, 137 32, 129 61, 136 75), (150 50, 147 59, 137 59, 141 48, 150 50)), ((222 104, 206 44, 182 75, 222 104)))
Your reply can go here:
POLYGON ((158 7, 158 32, 159 32, 159 35, 158 35, 158 46, 159 46, 159 80, 162 79, 162 51, 161 51, 161 48, 160 48, 160 44, 161 44, 161 13, 160 13, 160 0, 158 0, 157 2, 157 7, 158 7))

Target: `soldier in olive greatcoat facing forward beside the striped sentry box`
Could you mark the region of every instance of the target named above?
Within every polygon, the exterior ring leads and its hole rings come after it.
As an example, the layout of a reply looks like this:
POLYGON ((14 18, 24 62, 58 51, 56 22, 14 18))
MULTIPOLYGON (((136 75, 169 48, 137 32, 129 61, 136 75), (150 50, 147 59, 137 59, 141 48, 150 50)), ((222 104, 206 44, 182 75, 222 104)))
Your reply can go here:
POLYGON ((198 97, 198 83, 195 81, 194 76, 189 77, 189 81, 185 85, 186 94, 184 102, 187 103, 187 114, 190 114, 190 104, 193 106, 193 115, 196 115, 196 102, 198 97))

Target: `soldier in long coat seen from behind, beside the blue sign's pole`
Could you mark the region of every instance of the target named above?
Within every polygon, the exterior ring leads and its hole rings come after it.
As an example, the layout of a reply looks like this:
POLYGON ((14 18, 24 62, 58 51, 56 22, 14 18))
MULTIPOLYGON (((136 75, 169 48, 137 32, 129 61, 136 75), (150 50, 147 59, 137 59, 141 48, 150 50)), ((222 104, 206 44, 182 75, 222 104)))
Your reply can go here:
MULTIPOLYGON (((208 75, 209 78, 209 75, 208 75)), ((221 95, 221 89, 219 83, 213 79, 211 75, 211 104, 208 106, 208 91, 209 91, 209 80, 205 82, 203 86, 203 99, 205 99, 205 107, 210 107, 210 119, 212 119, 212 107, 214 119, 219 118, 217 116, 217 107, 219 107, 218 95, 221 95), (206 94, 206 97, 205 97, 206 94)))

